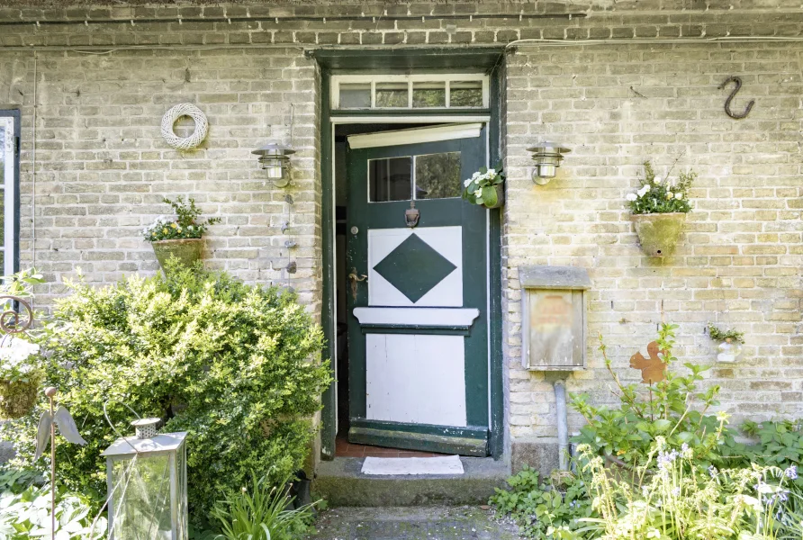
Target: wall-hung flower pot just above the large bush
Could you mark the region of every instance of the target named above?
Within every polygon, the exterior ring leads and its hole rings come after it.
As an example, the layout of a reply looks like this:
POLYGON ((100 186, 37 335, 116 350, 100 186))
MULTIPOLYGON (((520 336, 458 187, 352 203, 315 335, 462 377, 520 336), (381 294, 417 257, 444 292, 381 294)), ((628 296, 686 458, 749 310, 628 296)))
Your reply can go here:
POLYGON ((184 202, 184 198, 176 197, 175 201, 165 198, 176 212, 176 220, 158 218, 149 227, 146 227, 142 234, 153 246, 153 252, 162 269, 167 267, 167 260, 176 257, 183 266, 192 266, 195 261, 201 259, 203 251, 203 233, 214 223, 219 223, 220 218, 209 218, 201 221, 201 211, 195 206, 195 200, 190 199, 184 202))

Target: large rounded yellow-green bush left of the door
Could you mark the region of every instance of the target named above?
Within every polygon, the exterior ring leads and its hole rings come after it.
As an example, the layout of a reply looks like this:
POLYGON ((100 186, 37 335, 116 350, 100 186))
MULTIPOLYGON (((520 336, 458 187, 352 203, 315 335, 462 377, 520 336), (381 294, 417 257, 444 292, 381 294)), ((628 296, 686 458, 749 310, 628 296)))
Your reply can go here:
MULTIPOLYGON (((59 482, 102 499, 100 452, 129 434, 131 406, 189 432, 188 491, 203 516, 248 480, 278 482, 298 470, 313 437, 311 416, 329 383, 320 329, 292 293, 249 286, 201 266, 168 276, 130 276, 116 286, 68 283, 41 338, 47 382, 77 421, 86 446, 57 447, 59 482)), ((0 426, 31 463, 33 419, 0 426)), ((192 515, 192 514, 191 514, 192 515)))

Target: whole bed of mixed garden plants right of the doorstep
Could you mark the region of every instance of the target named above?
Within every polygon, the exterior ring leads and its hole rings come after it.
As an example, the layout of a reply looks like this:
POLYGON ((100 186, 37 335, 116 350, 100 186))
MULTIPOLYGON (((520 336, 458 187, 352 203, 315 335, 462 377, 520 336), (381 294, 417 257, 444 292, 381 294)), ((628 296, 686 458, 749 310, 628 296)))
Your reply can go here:
POLYGON ((525 469, 492 504, 531 538, 579 540, 791 540, 803 537, 803 434, 796 422, 746 422, 739 442, 717 406, 718 387, 699 391, 703 368, 678 374, 674 325, 656 343, 666 365, 660 383, 622 384, 600 352, 618 406, 573 396, 587 420, 574 438, 574 473, 539 482, 525 469), (560 479, 555 482, 555 478, 560 479))

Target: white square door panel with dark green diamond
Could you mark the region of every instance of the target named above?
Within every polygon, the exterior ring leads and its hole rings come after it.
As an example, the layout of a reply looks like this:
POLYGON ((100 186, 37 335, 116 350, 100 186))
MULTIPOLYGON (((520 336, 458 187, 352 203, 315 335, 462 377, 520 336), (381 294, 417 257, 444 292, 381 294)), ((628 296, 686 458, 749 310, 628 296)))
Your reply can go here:
POLYGON ((463 306, 463 228, 368 231, 368 305, 463 306))

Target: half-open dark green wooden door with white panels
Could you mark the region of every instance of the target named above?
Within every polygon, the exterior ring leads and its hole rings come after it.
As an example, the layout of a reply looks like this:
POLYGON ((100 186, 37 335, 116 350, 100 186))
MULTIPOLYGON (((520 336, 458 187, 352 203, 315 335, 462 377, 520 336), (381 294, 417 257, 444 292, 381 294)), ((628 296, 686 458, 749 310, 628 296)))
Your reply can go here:
POLYGON ((484 129, 348 150, 351 442, 487 455, 488 211, 460 198, 485 161, 484 129))

